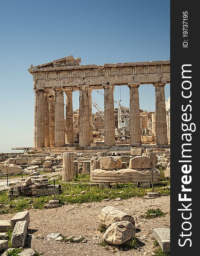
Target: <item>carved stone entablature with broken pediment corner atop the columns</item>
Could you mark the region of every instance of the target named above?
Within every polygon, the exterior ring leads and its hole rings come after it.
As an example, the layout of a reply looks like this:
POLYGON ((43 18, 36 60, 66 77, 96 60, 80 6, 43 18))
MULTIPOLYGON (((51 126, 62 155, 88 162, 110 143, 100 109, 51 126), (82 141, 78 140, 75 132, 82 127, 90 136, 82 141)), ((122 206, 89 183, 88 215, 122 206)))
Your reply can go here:
POLYGON ((69 61, 74 61, 76 65, 69 66, 66 64, 66 62, 69 63, 67 61, 69 57, 35 67, 31 66, 28 70, 33 75, 34 87, 63 86, 78 90, 77 86, 82 84, 87 84, 91 89, 102 89, 102 84, 107 82, 115 85, 130 82, 141 84, 170 82, 170 61, 126 62, 101 66, 79 65, 81 58, 73 58, 69 61))

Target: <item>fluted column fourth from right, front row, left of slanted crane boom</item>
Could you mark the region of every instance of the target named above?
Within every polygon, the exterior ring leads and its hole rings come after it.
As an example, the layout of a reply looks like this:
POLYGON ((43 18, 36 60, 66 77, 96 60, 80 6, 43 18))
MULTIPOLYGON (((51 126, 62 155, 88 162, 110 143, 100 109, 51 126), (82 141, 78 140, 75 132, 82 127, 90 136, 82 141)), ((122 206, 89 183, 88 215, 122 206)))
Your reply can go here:
POLYGON ((79 89, 79 146, 90 146, 88 87, 79 89))

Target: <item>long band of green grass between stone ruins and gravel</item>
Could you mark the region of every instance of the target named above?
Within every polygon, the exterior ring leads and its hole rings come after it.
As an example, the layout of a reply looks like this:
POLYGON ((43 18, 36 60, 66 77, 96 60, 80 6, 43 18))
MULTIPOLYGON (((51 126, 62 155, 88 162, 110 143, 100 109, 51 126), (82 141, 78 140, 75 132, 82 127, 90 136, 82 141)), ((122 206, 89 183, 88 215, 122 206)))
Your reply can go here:
MULTIPOLYGON (((51 181, 52 183, 53 181, 51 181)), ((55 195, 55 199, 60 204, 82 204, 100 202, 103 199, 122 198, 128 199, 132 197, 143 197, 147 192, 151 192, 151 188, 140 188, 137 183, 116 183, 110 188, 101 188, 98 183, 91 184, 90 175, 78 174, 77 180, 70 182, 62 182, 61 179, 55 180, 56 184, 61 184, 62 193, 55 195), (89 180, 89 182, 88 182, 89 180), (119 193, 123 191, 123 193, 119 193)), ((162 181, 154 183, 154 192, 159 195, 169 195, 170 189, 167 189, 168 182, 162 181)), ((52 199, 52 195, 43 195, 34 198, 20 197, 16 199, 9 198, 7 192, 0 193, 0 204, 3 207, 1 214, 20 212, 24 209, 43 209, 44 204, 52 199)))

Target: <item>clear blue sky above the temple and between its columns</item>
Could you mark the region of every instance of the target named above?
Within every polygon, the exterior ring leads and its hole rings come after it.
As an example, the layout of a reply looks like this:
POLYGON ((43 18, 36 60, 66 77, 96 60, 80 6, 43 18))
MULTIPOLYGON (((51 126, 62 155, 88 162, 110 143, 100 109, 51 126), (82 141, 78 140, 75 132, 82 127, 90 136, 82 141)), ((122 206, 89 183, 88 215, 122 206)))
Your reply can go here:
MULTIPOLYGON (((69 55, 83 65, 170 60, 170 0, 0 1, 0 153, 33 146, 35 96, 27 69, 69 55)), ((92 96, 103 108, 103 96, 92 96)), ((152 85, 140 86, 139 97, 140 109, 155 110, 152 85)), ((129 107, 125 86, 121 98, 129 107)))

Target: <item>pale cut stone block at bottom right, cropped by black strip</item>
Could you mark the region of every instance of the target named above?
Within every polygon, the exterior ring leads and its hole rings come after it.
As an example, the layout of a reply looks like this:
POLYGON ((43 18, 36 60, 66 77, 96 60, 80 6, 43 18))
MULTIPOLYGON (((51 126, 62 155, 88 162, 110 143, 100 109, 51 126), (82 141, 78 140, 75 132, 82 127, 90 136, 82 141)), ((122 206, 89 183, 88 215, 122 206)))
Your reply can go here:
POLYGON ((154 228, 154 238, 159 243, 163 253, 170 253, 170 229, 164 227, 154 228))

